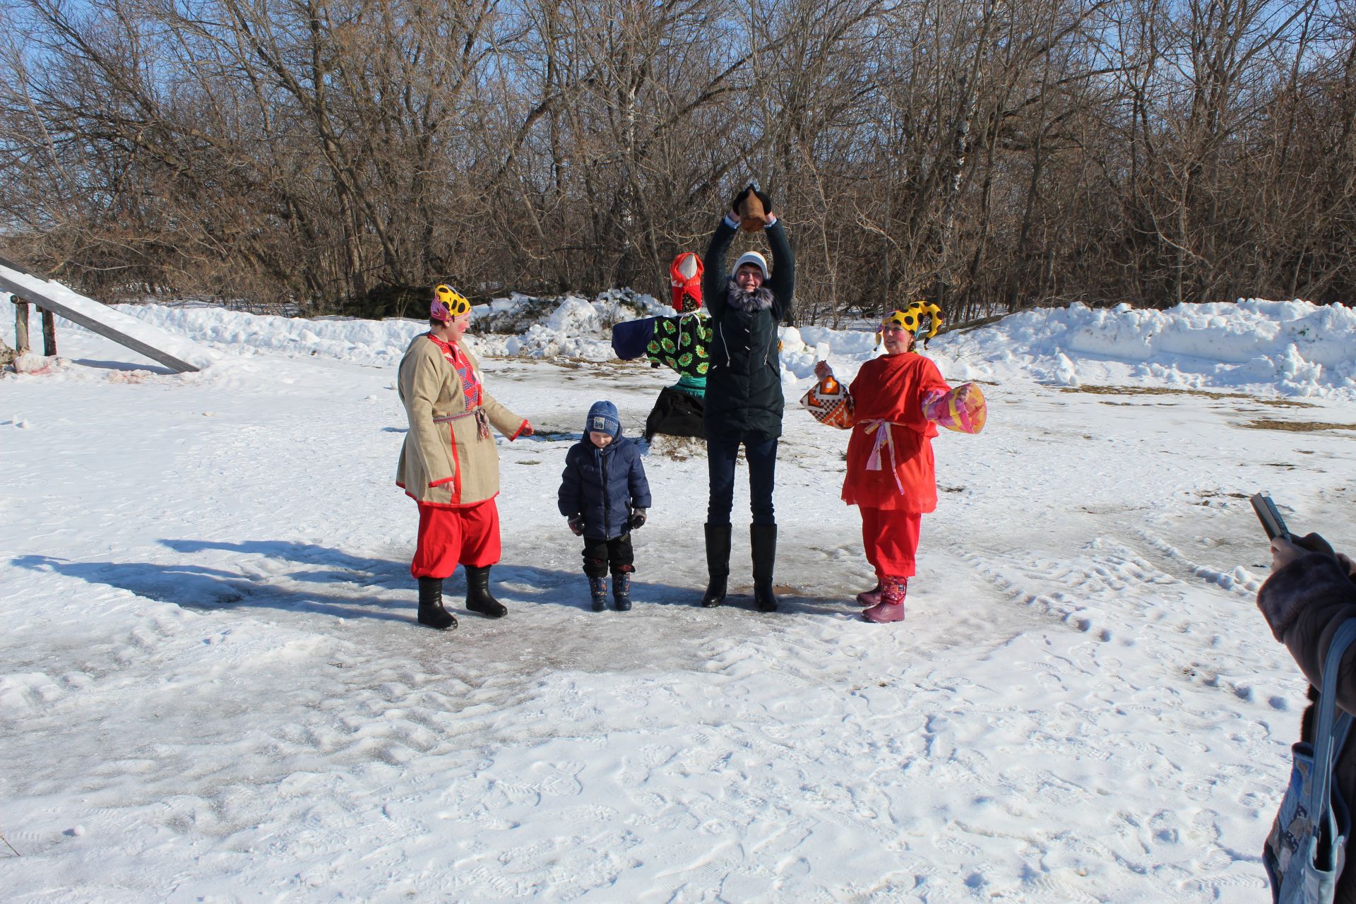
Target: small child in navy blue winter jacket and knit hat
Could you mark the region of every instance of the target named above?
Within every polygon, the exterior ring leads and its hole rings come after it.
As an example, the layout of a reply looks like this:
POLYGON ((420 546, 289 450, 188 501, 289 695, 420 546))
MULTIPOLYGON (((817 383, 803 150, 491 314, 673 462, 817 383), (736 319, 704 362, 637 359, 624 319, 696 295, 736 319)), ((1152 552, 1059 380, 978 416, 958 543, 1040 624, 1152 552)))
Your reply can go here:
POLYGON ((595 613, 607 607, 609 568, 613 606, 618 613, 631 609, 631 572, 636 571, 631 531, 645 523, 647 508, 650 482, 640 446, 621 435, 617 407, 595 401, 583 439, 565 453, 560 474, 560 514, 584 538, 584 575, 595 613))

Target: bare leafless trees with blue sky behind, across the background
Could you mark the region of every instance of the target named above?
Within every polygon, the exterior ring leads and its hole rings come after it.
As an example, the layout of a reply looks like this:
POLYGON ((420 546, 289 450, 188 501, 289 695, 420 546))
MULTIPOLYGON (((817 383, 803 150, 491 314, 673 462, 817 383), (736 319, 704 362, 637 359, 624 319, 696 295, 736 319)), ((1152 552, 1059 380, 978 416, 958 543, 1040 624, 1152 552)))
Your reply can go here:
POLYGON ((4 0, 0 253, 407 314, 633 286, 750 178, 801 323, 1353 298, 1338 0, 4 0))

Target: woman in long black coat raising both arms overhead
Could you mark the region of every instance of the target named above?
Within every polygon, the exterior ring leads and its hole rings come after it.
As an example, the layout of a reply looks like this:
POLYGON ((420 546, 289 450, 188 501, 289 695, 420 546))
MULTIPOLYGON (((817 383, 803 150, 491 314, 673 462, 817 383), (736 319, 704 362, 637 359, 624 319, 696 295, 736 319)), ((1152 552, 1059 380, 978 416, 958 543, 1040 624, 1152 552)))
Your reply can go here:
POLYGON ((730 515, 735 495, 735 459, 740 443, 749 461, 753 525, 754 602, 758 611, 777 609, 773 565, 777 558, 777 520, 772 492, 776 484, 777 439, 781 436, 781 361, 777 327, 791 313, 796 287, 796 260, 786 230, 772 213, 772 202, 753 186, 731 203, 716 226, 702 260, 702 294, 711 312, 711 370, 706 374, 706 454, 711 500, 706 507, 706 569, 711 583, 701 598, 706 607, 725 599, 730 579, 730 515), (753 209, 750 211, 750 207, 753 209), (725 270, 725 253, 735 232, 761 228, 767 236, 774 266, 758 252, 742 255, 725 270), (728 272, 728 275, 727 275, 728 272))

